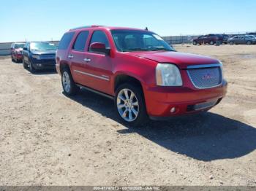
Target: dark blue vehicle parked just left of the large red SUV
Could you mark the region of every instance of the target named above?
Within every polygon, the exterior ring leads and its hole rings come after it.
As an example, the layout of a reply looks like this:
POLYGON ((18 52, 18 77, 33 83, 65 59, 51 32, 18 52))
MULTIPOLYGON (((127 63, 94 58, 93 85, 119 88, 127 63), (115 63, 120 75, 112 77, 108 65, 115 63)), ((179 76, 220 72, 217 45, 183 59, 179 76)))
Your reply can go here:
POLYGON ((35 72, 55 69, 56 45, 51 42, 27 42, 23 47, 23 67, 35 72))

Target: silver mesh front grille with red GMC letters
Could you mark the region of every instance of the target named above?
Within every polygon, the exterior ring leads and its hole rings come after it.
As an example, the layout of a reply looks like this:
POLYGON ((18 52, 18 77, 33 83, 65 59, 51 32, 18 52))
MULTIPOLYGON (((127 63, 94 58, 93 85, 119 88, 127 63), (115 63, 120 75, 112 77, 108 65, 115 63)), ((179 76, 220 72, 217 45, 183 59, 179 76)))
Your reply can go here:
POLYGON ((216 87, 222 82, 222 69, 219 66, 187 69, 192 84, 199 89, 216 87))

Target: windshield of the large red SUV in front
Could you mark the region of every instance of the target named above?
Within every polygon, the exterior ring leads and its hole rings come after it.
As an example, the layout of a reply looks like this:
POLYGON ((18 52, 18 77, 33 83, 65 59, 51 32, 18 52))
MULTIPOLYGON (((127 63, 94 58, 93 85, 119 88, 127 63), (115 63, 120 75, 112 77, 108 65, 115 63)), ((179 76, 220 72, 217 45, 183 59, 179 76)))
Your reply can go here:
POLYGON ((112 30, 116 48, 121 52, 132 51, 175 51, 160 36, 149 31, 112 30))

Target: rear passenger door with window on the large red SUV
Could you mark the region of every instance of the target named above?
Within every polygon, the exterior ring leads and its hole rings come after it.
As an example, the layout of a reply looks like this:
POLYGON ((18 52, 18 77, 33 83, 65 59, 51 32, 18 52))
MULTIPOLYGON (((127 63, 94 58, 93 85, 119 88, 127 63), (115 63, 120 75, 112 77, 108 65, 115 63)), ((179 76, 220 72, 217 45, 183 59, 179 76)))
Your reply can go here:
POLYGON ((89 31, 81 31, 72 44, 71 49, 69 50, 68 59, 71 63, 71 72, 74 81, 80 85, 86 85, 86 79, 83 75, 86 69, 85 51, 86 51, 86 42, 89 36, 89 31))

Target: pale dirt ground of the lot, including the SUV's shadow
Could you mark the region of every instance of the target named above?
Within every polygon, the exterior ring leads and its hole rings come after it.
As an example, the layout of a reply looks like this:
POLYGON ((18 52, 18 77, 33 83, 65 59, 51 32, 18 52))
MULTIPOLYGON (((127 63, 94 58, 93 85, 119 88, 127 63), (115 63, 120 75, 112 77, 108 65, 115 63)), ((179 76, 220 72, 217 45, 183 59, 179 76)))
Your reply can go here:
POLYGON ((0 184, 256 186, 256 46, 175 47, 219 58, 227 97, 144 128, 121 125, 108 98, 69 98, 58 74, 1 58, 0 184))

